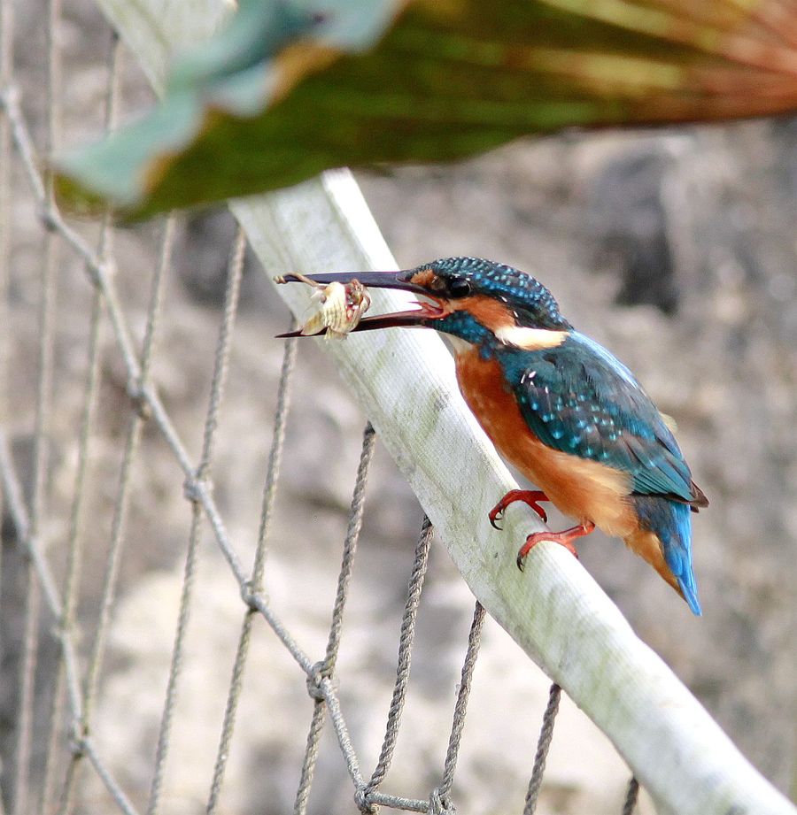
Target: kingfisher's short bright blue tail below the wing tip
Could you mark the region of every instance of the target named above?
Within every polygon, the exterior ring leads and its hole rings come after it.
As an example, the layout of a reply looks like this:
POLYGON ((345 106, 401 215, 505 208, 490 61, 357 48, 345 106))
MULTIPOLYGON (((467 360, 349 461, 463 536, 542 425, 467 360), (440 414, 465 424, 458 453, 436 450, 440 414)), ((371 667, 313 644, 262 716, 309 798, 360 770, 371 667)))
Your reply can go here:
POLYGON ((636 496, 639 519, 662 542, 664 560, 693 613, 703 613, 692 567, 692 513, 687 504, 654 496, 636 496))

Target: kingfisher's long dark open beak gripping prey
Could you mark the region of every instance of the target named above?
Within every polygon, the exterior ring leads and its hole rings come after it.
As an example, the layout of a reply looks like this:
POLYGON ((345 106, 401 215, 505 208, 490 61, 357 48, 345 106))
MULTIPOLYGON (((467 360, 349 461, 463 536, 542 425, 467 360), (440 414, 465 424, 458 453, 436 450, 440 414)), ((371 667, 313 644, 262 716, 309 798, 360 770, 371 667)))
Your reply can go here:
MULTIPOLYGON (((392 328, 397 326, 422 326, 429 319, 439 319, 445 316, 445 307, 442 301, 429 295, 429 292, 409 281, 412 272, 329 272, 321 274, 307 274, 298 277, 295 274, 285 274, 282 281, 286 283, 313 281, 328 285, 329 283, 350 283, 353 280, 360 281, 366 288, 396 288, 399 291, 413 292, 424 297, 429 297, 435 302, 418 303, 417 309, 409 311, 394 311, 392 314, 380 314, 375 317, 365 317, 360 320, 352 331, 373 331, 375 328, 392 328)), ((326 331, 322 328, 317 334, 326 331)), ((289 331, 285 334, 277 334, 277 337, 302 336, 301 330, 289 331)))

